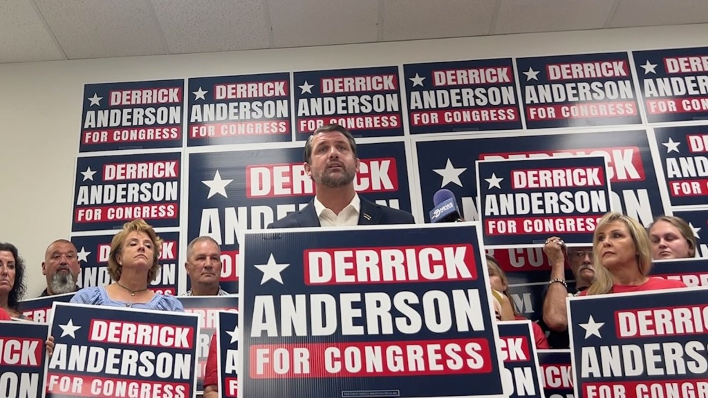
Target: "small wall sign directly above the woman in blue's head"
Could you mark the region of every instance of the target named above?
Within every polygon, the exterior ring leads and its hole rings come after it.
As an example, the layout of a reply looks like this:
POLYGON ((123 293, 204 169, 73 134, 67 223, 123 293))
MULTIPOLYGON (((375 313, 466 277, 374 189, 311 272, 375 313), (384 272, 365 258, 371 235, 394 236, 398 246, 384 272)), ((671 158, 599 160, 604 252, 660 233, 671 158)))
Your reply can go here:
POLYGON ((178 227, 181 158, 174 152, 76 159, 72 232, 120 229, 136 218, 178 227))

